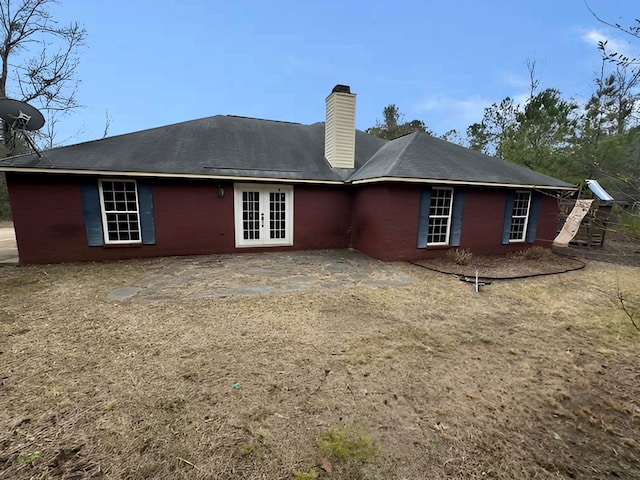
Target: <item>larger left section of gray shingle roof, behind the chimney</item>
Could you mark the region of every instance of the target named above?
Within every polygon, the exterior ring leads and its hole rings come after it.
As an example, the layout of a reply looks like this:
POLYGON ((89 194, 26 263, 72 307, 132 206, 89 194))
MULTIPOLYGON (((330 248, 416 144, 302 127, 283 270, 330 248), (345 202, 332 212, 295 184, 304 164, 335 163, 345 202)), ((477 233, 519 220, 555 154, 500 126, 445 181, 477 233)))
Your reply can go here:
MULTIPOLYGON (((356 135, 363 165, 384 140, 356 135)), ((0 165, 6 166, 6 161, 0 165)), ((55 170, 259 177, 341 182, 324 158, 324 124, 217 115, 15 157, 15 166, 55 170), (53 165, 52 165, 53 164, 53 165)), ((351 173, 351 171, 349 171, 351 173)))

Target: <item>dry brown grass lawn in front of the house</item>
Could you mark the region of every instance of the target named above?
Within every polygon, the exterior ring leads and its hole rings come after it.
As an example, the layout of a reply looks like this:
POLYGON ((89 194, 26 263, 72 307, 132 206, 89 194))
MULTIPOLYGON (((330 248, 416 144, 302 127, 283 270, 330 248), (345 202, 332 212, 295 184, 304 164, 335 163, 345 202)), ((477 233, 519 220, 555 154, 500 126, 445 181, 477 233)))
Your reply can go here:
POLYGON ((107 300, 156 262, 0 269, 0 478, 640 478, 639 268, 107 300))

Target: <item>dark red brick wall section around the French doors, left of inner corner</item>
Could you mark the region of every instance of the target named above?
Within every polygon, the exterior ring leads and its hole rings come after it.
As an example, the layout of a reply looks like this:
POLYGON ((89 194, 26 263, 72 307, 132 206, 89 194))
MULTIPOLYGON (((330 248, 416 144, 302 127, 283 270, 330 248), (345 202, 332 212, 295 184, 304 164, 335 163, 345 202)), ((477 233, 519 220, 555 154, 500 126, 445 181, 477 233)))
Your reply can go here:
POLYGON ((294 246, 236 248, 231 182, 144 179, 153 187, 156 244, 89 247, 77 178, 7 174, 21 263, 349 246, 351 195, 344 188, 294 187, 294 246))

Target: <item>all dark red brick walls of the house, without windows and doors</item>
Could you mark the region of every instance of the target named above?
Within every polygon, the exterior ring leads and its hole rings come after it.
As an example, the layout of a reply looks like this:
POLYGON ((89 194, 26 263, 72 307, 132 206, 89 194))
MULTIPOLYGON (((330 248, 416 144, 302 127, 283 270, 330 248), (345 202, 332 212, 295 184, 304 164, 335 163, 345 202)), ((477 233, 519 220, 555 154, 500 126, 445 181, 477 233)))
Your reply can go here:
MULTIPOLYGON (((233 184, 144 179, 153 187, 155 245, 87 246, 78 177, 7 173, 20 262, 104 261, 135 257, 274 250, 353 248, 385 261, 445 255, 452 247, 419 249, 420 185, 294 187, 294 246, 236 248, 233 184)), ((504 254, 530 246, 501 245, 505 193, 466 188, 461 244, 475 254, 504 254)), ((549 246, 558 213, 543 196, 537 245, 549 246)))

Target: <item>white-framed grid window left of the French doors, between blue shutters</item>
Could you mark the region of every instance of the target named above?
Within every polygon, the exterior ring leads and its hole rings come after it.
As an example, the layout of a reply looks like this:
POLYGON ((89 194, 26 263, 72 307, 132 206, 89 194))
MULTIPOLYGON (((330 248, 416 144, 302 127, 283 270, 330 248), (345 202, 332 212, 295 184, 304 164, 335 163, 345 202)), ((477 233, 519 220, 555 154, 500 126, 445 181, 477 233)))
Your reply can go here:
POLYGON ((104 243, 141 243, 135 180, 100 180, 99 186, 104 243))

